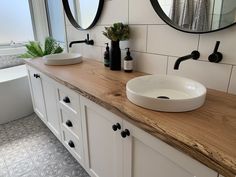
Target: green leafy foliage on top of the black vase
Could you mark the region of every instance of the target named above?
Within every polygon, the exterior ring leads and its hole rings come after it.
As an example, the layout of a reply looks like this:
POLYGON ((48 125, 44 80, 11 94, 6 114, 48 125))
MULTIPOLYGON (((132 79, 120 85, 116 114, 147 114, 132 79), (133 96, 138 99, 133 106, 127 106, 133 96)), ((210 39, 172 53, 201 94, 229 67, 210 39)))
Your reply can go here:
POLYGON ((110 27, 105 27, 103 31, 105 35, 111 41, 125 41, 129 39, 129 26, 123 23, 114 23, 110 27))

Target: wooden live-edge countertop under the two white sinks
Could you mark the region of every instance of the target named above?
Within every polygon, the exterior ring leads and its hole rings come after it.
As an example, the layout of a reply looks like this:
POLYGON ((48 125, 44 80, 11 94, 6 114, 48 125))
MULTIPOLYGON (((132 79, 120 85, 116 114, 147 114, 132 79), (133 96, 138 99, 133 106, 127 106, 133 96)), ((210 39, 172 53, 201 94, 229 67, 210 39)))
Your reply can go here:
POLYGON ((26 63, 225 177, 236 176, 236 95, 208 90, 200 109, 156 112, 126 97, 127 81, 144 73, 110 71, 94 60, 70 66, 47 66, 40 58, 26 63))

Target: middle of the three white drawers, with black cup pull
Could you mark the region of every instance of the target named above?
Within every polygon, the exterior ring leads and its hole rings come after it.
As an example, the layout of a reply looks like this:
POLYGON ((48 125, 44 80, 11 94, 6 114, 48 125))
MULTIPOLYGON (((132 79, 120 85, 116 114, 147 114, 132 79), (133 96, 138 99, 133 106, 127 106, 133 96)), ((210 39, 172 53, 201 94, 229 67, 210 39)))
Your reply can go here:
POLYGON ((60 114, 62 126, 79 139, 81 132, 81 119, 79 114, 75 115, 64 109, 60 109, 60 114))

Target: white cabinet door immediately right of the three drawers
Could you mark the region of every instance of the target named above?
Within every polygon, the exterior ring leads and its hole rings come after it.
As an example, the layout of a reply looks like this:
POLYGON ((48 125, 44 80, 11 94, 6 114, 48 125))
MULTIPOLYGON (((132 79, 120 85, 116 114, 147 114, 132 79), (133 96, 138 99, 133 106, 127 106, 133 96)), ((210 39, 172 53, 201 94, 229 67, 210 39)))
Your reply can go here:
POLYGON ((122 138, 112 129, 122 120, 84 97, 81 106, 87 171, 92 177, 122 177, 122 138))

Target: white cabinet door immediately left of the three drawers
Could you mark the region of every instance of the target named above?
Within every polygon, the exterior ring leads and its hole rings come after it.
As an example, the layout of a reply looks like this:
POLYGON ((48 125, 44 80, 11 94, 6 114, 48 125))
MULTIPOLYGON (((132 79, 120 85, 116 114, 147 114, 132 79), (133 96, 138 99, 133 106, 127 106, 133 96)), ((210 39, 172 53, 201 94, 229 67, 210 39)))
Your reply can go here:
POLYGON ((46 76, 42 77, 43 93, 47 114, 47 125, 54 135, 61 139, 61 130, 58 115, 58 93, 56 83, 46 76))

